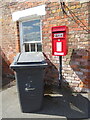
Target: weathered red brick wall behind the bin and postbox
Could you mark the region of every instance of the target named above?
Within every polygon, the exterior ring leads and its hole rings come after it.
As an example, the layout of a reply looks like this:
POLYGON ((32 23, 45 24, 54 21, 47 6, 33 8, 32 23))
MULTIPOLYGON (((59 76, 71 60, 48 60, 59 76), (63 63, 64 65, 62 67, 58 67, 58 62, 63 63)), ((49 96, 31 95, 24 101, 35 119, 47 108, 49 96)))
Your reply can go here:
MULTIPOLYGON (((45 83, 58 83, 59 58, 52 56, 51 43, 51 27, 66 25, 69 28, 68 33, 68 54, 63 57, 63 85, 69 86, 74 91, 88 91, 90 88, 90 49, 89 49, 89 33, 77 25, 71 16, 67 17, 63 14, 58 2, 12 2, 3 3, 0 9, 2 11, 2 51, 4 53, 4 61, 9 65, 13 61, 13 57, 20 51, 20 36, 17 22, 12 21, 12 13, 18 10, 35 7, 46 4, 46 15, 42 17, 42 39, 43 52, 49 63, 45 70, 45 83)), ((66 3, 72 12, 88 27, 89 26, 89 5, 90 2, 66 3)), ((68 15, 68 9, 66 9, 68 15)), ((80 24, 82 25, 82 24, 80 24)), ((3 68, 8 69, 3 62, 3 68)), ((10 71, 9 71, 10 70, 10 71)), ((4 72, 4 74, 9 74, 4 72)))

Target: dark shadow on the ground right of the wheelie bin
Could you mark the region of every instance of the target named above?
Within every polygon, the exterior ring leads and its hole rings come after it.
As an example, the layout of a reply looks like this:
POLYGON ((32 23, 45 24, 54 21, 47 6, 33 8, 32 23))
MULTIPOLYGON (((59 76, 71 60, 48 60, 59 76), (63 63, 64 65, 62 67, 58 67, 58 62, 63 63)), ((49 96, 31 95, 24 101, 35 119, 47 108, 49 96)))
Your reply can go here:
MULTIPOLYGON (((57 93, 57 92, 56 92, 57 93)), ((90 118, 90 101, 86 93, 72 93, 68 89, 58 89, 59 94, 45 95, 43 108, 39 114, 64 116, 66 118, 90 118)))

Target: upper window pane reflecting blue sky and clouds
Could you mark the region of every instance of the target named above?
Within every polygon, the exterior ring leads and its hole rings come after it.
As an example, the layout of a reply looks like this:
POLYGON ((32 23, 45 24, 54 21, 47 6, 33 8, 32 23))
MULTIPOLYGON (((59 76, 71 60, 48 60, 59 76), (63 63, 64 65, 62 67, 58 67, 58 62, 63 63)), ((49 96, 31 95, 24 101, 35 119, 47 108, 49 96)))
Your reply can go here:
POLYGON ((22 22, 23 42, 41 41, 40 20, 22 22))

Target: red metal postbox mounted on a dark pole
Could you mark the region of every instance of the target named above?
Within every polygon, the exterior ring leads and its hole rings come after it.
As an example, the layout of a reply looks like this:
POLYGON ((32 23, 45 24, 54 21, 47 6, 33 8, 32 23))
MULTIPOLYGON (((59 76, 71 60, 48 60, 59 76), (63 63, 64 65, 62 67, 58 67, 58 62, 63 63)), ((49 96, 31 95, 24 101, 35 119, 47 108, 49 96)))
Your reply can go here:
POLYGON ((52 55, 65 56, 68 52, 67 26, 52 27, 52 55))

